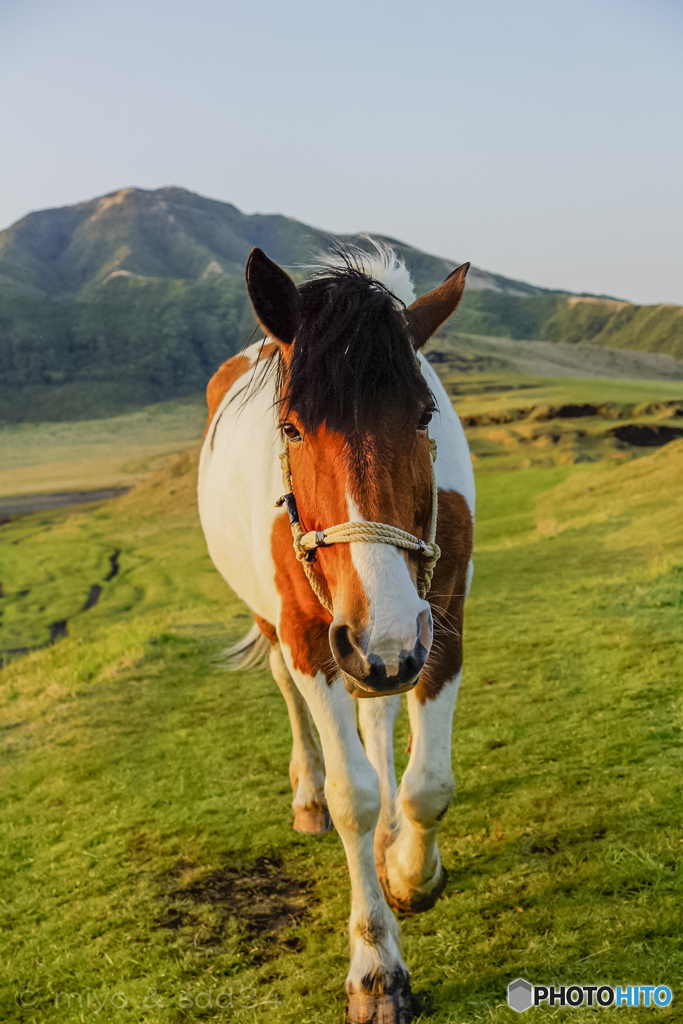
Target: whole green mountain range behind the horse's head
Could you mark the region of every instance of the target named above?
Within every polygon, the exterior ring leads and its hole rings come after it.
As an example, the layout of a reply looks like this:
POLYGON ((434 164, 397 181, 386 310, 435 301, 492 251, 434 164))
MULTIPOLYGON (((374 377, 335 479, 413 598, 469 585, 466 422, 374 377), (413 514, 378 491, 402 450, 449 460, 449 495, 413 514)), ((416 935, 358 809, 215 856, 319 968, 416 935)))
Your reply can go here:
MULTIPOLYGON (((106 416, 203 390, 254 330, 244 283, 251 249, 303 280, 334 241, 290 217, 247 215, 175 187, 123 188, 29 214, 0 231, 0 421, 106 416)), ((382 241, 404 258, 418 294, 458 265, 382 241)), ((678 307, 656 308, 472 267, 445 331, 683 356, 678 307)))

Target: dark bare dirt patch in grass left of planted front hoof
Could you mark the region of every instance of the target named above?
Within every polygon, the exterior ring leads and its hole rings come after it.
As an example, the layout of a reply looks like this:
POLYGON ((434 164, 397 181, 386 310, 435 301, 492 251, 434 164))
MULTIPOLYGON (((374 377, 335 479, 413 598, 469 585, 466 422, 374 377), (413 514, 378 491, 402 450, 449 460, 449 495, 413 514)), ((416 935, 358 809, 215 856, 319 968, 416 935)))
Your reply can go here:
MULTIPOLYGON (((186 868, 184 863, 178 866, 186 868)), ((200 920, 200 908, 210 908, 214 925, 203 937, 203 945, 219 945, 237 925, 252 959, 263 962, 276 947, 296 950, 303 945, 299 938, 283 938, 282 933, 300 924, 316 902, 312 889, 307 879, 286 873, 279 857, 259 857, 248 866, 226 865, 190 885, 172 889, 166 897, 166 911, 156 925, 172 931, 193 929, 200 920), (251 948, 255 942, 256 948, 251 948)))

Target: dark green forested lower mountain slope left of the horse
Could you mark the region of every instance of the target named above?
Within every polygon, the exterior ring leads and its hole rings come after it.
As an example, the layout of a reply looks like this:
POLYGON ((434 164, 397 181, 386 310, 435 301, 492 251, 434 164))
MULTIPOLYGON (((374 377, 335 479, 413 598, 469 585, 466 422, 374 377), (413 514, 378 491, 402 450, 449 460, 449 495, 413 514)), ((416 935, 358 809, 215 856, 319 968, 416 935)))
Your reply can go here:
POLYGON ((115 278, 69 301, 0 289, 0 421, 89 419, 203 390, 248 340, 242 280, 115 278))

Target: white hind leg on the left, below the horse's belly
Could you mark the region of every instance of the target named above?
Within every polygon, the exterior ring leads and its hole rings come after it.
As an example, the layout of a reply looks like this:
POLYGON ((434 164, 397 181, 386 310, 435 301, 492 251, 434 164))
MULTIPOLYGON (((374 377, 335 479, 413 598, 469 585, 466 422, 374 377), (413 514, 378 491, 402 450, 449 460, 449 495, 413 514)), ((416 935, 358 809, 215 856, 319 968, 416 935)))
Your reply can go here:
POLYGON ((330 815, 325 803, 325 765, 306 701, 285 665, 280 644, 270 648, 270 671, 285 697, 292 726, 290 781, 294 800, 294 830, 311 835, 328 831, 330 815))

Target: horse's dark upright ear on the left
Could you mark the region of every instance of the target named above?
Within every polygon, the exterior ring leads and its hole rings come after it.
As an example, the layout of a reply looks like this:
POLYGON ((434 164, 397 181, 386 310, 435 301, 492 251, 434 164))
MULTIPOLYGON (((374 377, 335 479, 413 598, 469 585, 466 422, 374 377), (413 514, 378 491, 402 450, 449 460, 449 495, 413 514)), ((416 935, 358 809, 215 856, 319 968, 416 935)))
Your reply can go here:
POLYGON ((247 260, 247 290, 256 318, 275 341, 291 345, 301 323, 297 287, 281 266, 260 249, 247 260))

